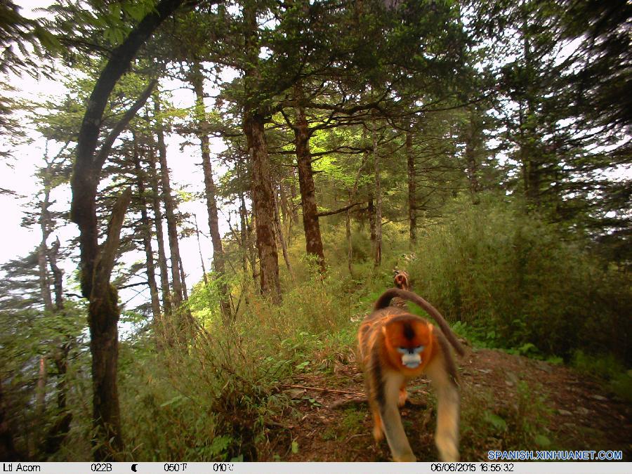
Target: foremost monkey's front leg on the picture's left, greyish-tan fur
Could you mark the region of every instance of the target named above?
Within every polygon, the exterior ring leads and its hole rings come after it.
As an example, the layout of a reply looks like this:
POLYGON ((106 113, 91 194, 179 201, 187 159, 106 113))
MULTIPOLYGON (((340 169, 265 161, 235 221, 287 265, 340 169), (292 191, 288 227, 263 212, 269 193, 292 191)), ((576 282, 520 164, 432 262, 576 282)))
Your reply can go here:
POLYGON ((383 397, 378 397, 377 401, 388 447, 393 454, 393 461, 416 461, 406 433, 404 433, 400 409, 397 408, 397 400, 400 395, 400 387, 404 383, 404 376, 398 372, 389 371, 384 374, 382 383, 383 397))

